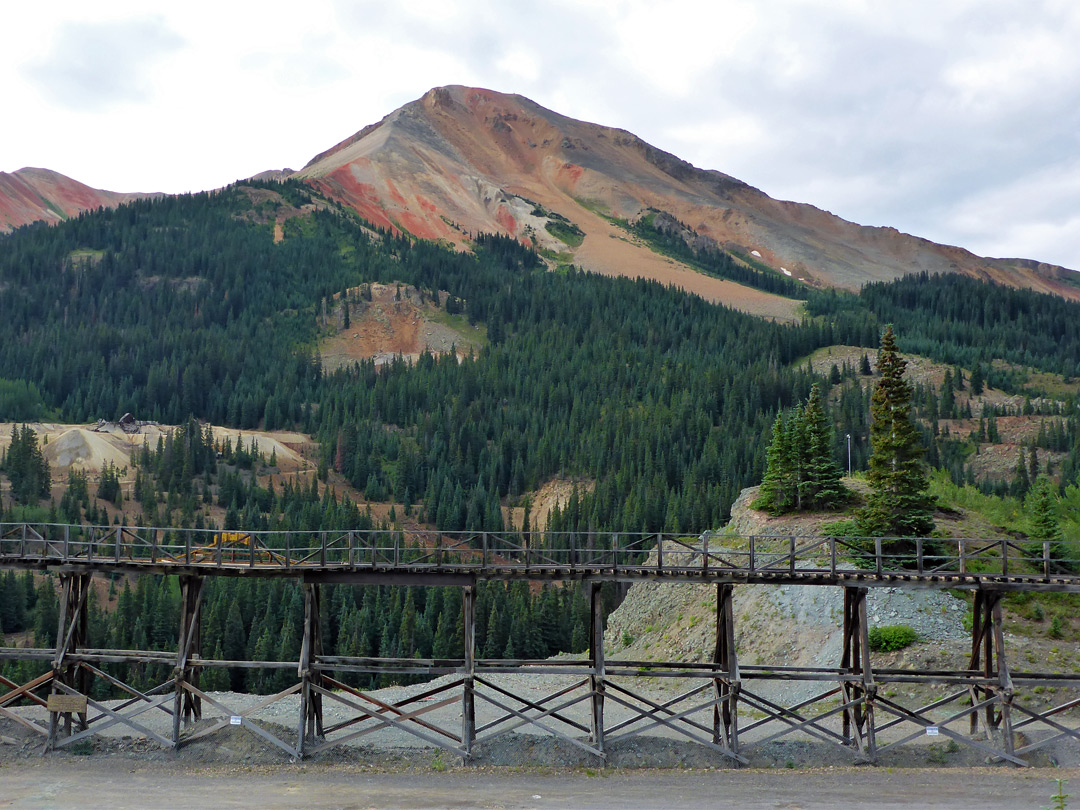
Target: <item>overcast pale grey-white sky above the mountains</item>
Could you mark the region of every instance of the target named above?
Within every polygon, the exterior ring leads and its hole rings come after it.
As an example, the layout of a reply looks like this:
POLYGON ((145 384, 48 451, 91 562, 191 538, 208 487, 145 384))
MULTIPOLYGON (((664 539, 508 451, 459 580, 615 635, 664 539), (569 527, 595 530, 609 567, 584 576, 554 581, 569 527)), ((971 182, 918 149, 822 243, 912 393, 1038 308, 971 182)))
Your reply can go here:
POLYGON ((1075 0, 50 0, 0 21, 0 171, 214 188, 469 84, 864 225, 1080 269, 1075 0))

